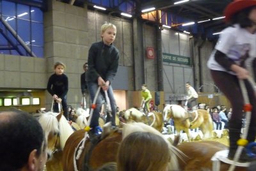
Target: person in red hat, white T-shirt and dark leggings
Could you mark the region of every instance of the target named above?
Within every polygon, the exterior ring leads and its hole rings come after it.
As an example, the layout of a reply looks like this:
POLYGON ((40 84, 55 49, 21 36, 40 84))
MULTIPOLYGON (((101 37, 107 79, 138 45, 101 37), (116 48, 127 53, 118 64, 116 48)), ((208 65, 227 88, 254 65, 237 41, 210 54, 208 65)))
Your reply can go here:
MULTIPOLYGON (((234 160, 237 141, 240 139, 244 110, 244 96, 239 80, 247 91, 249 105, 252 105, 251 119, 246 121, 249 126, 246 141, 254 142, 256 135, 255 88, 249 81, 250 77, 253 75, 255 77, 256 68, 256 1, 234 0, 228 4, 224 13, 225 20, 230 26, 220 34, 207 66, 211 70, 215 84, 225 94, 233 108, 228 124, 230 144, 228 158, 234 160)), ((243 150, 239 161, 252 160, 243 150)))

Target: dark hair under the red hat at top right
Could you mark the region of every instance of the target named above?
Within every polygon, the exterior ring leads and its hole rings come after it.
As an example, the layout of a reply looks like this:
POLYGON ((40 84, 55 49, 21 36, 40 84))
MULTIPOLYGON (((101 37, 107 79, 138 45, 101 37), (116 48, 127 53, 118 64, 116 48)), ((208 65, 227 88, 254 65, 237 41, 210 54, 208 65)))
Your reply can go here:
POLYGON ((241 28, 252 27, 253 23, 252 20, 249 19, 249 14, 253 8, 256 8, 256 6, 250 6, 237 12, 231 17, 230 24, 239 24, 241 28))

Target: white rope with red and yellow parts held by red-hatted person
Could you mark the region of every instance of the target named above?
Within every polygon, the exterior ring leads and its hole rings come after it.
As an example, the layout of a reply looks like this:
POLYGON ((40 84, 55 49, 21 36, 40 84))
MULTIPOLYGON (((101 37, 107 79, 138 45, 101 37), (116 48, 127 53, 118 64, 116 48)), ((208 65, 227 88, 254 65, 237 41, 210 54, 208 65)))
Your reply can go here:
MULTIPOLYGON (((252 80, 252 78, 248 78, 248 81, 250 82, 251 85, 253 85, 253 88, 255 87, 255 82, 252 80)), ((246 87, 244 84, 244 81, 239 79, 239 85, 241 87, 242 90, 242 94, 243 94, 243 99, 244 99, 244 112, 246 112, 246 126, 244 128, 244 133, 242 135, 242 137, 237 140, 237 150, 236 150, 236 154, 234 156, 234 161, 232 163, 232 165, 230 165, 228 171, 233 171, 236 168, 236 162, 239 160, 241 153, 244 149, 244 146, 246 146, 248 144, 248 140, 246 139, 248 136, 248 130, 249 130, 249 126, 250 126, 250 122, 251 122, 251 115, 252 115, 252 105, 250 104, 249 98, 248 98, 248 92, 246 91, 246 87)))

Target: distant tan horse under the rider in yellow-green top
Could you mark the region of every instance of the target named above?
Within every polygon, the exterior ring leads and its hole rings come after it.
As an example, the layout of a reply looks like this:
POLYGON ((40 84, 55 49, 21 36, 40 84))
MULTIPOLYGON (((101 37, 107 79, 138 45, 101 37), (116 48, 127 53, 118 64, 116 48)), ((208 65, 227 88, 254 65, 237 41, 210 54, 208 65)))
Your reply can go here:
POLYGON ((148 114, 144 114, 136 108, 130 108, 128 110, 120 111, 119 116, 122 117, 120 121, 124 123, 145 123, 152 126, 159 132, 163 130, 163 114, 161 112, 152 111, 148 112, 148 114))

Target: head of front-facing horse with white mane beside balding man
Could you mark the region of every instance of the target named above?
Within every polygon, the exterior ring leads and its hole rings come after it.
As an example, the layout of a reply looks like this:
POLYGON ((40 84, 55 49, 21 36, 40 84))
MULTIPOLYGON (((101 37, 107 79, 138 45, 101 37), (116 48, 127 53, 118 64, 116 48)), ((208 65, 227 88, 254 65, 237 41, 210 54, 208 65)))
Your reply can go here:
POLYGON ((44 130, 45 140, 47 140, 47 155, 50 158, 46 163, 47 171, 62 170, 63 148, 74 130, 62 113, 42 113, 39 115, 38 121, 44 130))

